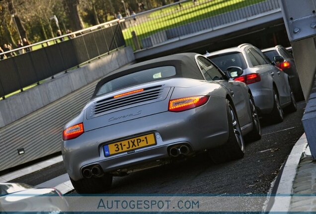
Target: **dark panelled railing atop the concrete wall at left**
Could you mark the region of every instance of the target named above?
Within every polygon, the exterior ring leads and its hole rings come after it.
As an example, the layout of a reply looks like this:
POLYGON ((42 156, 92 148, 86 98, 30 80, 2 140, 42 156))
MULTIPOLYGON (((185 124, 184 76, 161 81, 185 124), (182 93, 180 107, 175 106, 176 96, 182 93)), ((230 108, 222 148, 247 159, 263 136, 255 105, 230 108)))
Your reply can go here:
POLYGON ((113 20, 0 55, 42 48, 0 60, 0 97, 52 77, 102 54, 125 46, 121 21, 113 20), (67 39, 66 39, 67 38, 67 39), (64 41, 62 41, 64 39, 64 41), (55 43, 49 45, 50 43, 55 43))

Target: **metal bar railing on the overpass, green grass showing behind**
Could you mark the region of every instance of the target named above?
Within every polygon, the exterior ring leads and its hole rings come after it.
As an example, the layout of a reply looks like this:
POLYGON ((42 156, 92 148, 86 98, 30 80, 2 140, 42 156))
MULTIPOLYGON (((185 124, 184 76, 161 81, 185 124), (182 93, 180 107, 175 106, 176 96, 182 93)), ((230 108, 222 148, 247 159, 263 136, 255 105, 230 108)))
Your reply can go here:
POLYGON ((278 0, 182 0, 126 17, 123 35, 134 50, 146 49, 279 8, 278 0))

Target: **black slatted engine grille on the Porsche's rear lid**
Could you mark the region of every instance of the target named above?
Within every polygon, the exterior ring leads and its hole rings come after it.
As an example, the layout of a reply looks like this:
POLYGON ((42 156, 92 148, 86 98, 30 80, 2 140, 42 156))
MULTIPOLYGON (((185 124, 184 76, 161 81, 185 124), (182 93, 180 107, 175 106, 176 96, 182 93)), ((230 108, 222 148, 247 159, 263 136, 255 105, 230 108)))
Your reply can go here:
POLYGON ((93 107, 92 112, 95 115, 103 113, 105 111, 113 110, 115 108, 126 107, 146 101, 156 100, 161 96, 162 91, 162 88, 155 87, 144 89, 143 92, 132 94, 130 96, 124 96, 120 98, 107 98, 96 102, 96 105, 93 107))

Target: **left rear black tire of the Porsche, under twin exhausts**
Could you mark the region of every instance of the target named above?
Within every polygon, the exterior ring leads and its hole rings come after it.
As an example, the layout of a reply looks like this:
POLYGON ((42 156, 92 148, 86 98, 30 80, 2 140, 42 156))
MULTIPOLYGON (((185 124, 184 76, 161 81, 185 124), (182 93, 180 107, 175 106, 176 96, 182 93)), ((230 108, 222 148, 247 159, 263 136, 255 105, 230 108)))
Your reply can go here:
POLYGON ((102 177, 83 178, 78 181, 70 178, 75 190, 79 194, 103 193, 111 188, 112 175, 105 174, 102 177))

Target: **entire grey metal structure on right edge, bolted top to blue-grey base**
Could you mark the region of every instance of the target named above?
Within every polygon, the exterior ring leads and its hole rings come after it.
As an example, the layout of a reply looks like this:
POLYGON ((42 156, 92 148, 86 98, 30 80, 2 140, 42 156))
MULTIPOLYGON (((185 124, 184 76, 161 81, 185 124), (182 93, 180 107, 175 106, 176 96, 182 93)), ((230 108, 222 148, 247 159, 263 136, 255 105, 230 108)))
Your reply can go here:
POLYGON ((307 101, 302 121, 313 159, 316 160, 315 90, 311 94, 316 74, 316 0, 281 0, 281 8, 307 101))

